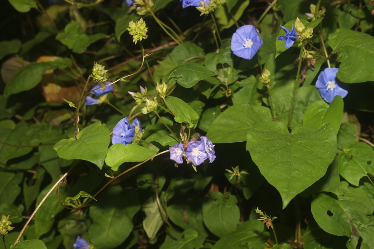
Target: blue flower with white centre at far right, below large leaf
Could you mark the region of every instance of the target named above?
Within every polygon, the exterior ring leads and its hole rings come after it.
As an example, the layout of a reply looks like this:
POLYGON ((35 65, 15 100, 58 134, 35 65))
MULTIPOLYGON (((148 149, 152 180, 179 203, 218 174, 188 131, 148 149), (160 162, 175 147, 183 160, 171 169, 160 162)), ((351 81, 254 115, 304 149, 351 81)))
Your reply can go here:
POLYGON ((338 85, 338 83, 343 84, 336 77, 338 71, 337 68, 326 68, 318 75, 316 88, 327 103, 331 103, 337 95, 344 98, 348 94, 347 90, 338 85))

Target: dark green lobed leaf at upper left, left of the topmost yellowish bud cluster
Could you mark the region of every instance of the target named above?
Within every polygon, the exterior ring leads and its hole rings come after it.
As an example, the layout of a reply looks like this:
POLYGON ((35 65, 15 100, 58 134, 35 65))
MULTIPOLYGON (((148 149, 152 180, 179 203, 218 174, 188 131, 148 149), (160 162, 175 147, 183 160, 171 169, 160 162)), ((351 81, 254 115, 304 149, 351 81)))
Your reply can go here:
POLYGON ((87 47, 92 43, 106 36, 106 34, 102 33, 88 35, 82 31, 79 22, 71 22, 70 24, 66 25, 65 32, 61 32, 56 35, 56 40, 59 40, 69 49, 73 49, 74 53, 81 54, 85 52, 87 47))

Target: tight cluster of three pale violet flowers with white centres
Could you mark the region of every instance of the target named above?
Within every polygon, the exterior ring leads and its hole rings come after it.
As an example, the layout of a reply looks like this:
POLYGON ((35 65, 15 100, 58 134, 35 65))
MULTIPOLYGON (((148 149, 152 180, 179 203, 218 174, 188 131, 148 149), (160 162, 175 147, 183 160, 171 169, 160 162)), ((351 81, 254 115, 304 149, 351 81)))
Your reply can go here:
MULTIPOLYGON (((194 140, 194 139, 193 139, 194 140)), ((188 162, 192 162, 194 166, 202 164, 207 158, 209 162, 215 159, 214 145, 207 137, 201 136, 200 141, 189 141, 187 146, 182 142, 169 147, 170 159, 174 160, 177 164, 183 163, 184 157, 188 162)))

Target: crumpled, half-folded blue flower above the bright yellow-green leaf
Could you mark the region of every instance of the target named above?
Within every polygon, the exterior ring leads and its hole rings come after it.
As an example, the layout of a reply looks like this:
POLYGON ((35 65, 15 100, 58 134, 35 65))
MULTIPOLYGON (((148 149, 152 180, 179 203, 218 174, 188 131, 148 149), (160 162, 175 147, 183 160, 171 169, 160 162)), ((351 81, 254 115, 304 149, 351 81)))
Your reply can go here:
POLYGON ((132 124, 129 123, 127 118, 121 119, 118 124, 113 128, 112 144, 123 143, 129 144, 135 136, 135 126, 140 126, 140 121, 135 118, 132 124))

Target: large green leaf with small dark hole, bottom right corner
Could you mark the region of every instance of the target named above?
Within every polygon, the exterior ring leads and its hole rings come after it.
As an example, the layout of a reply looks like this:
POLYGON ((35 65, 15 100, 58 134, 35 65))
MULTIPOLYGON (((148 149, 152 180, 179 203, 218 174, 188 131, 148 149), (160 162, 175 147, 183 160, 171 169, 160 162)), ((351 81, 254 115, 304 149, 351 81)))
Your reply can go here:
POLYGON ((348 185, 340 182, 337 198, 319 193, 312 201, 313 217, 328 233, 362 237, 361 248, 374 248, 374 204, 364 189, 348 185))

